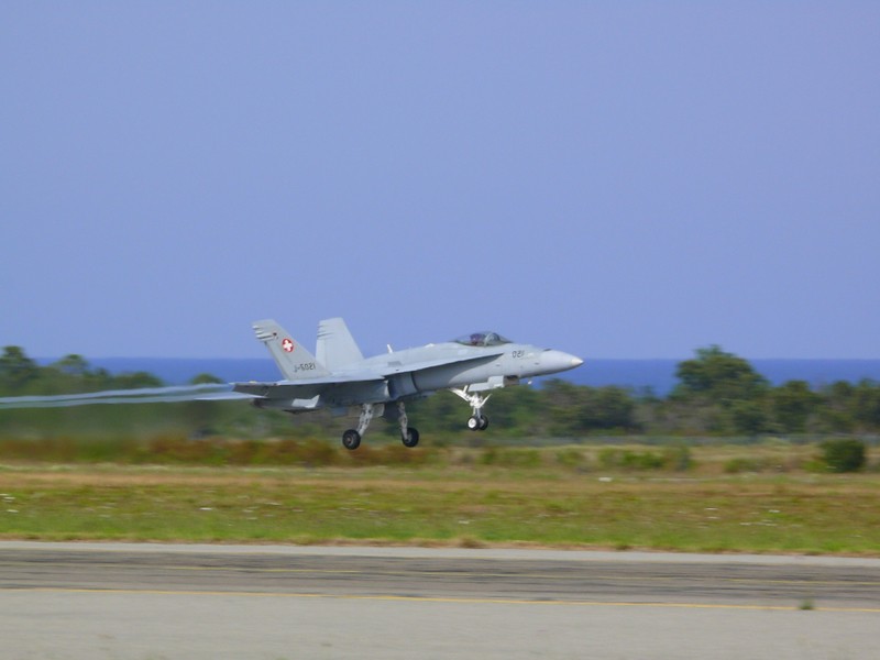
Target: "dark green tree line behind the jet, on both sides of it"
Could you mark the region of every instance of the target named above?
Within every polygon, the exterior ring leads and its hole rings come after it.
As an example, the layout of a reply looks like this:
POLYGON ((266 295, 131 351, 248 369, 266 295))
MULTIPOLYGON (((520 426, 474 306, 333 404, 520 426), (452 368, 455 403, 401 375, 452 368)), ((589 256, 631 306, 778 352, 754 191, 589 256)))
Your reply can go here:
MULTIPOLYGON (((675 370, 667 396, 618 386, 591 387, 550 380, 541 387, 509 387, 493 394, 487 414, 495 428, 520 437, 591 435, 761 436, 880 432, 880 383, 839 381, 813 388, 805 381, 778 386, 745 359, 717 345, 698 349, 675 370)), ((193 383, 217 383, 200 374, 193 383)), ((158 387, 146 372, 111 374, 81 355, 41 366, 20 346, 0 355, 0 396, 53 395, 102 389, 158 387)), ((461 431, 466 410, 453 396, 432 396, 409 406, 425 430, 461 431)), ((199 424, 210 424, 199 408, 199 424)), ((253 415, 253 414, 252 414, 253 415)), ((260 419, 261 411, 254 417, 260 419)), ((277 416, 276 416, 277 417, 277 416)), ((295 417, 294 427, 306 416, 295 417)), ((285 424, 290 421, 284 416, 285 424)), ((239 420, 237 424, 241 424, 239 420)), ((266 428, 266 425, 262 425, 266 428)), ((389 433, 396 433, 389 425, 389 433)), ((276 428, 272 425, 271 428, 276 428)))

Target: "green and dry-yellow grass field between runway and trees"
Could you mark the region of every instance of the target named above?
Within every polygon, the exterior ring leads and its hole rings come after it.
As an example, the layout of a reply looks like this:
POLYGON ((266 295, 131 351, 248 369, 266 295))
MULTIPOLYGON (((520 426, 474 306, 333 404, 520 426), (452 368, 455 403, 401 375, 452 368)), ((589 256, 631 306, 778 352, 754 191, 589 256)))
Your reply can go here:
POLYGON ((806 450, 752 452, 777 469, 739 474, 724 466, 741 448, 695 450, 700 469, 681 473, 512 451, 321 469, 8 464, 0 537, 880 556, 880 475, 785 469, 806 450))

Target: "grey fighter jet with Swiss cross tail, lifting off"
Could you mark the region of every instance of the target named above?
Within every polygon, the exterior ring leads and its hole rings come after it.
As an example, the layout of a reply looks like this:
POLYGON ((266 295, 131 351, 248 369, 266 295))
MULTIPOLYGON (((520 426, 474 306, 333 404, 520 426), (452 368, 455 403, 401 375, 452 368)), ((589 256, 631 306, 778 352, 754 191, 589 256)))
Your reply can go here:
MULTIPOLYGON (((488 427, 483 414, 491 391, 522 380, 563 372, 583 360, 562 351, 514 343, 497 332, 473 332, 454 341, 364 358, 341 318, 318 324, 316 355, 272 319, 253 323, 284 376, 274 383, 233 383, 233 396, 252 398, 257 408, 309 413, 329 408, 344 415, 360 407, 356 429, 342 433, 346 449, 358 449, 376 415, 396 418, 406 447, 419 443, 409 426, 406 402, 449 389, 471 406, 468 428, 488 427)), ((232 394, 232 393, 231 393, 232 394)))

